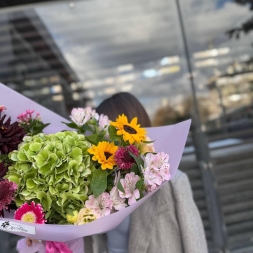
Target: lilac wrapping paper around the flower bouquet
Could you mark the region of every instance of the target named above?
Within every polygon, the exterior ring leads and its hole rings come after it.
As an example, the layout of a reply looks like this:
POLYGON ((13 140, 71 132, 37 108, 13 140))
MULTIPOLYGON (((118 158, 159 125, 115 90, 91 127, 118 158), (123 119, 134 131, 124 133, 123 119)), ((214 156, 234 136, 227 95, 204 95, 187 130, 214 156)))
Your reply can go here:
MULTIPOLYGON (((66 119, 42 107, 41 105, 29 100, 28 98, 22 96, 21 94, 7 88, 2 84, 0 84, 0 105, 5 105, 7 107, 6 114, 11 116, 13 121, 16 120, 18 114, 25 111, 26 109, 33 109, 36 112, 40 112, 43 122, 51 123, 51 125, 45 129, 44 131, 45 133, 55 133, 57 131, 67 129, 67 127, 61 123, 62 121, 66 121, 66 119)), ((178 169, 179 162, 181 160, 184 146, 186 143, 187 135, 189 132, 190 124, 191 120, 187 120, 176 125, 147 129, 148 136, 152 140, 155 140, 154 146, 156 152, 163 151, 169 154, 170 156, 169 163, 170 163, 171 178, 175 175, 178 169)), ((135 204, 123 210, 120 210, 119 212, 100 218, 92 223, 80 226, 31 224, 13 220, 10 218, 5 219, 0 218, 0 222, 11 221, 15 222, 20 226, 26 225, 35 228, 35 232, 33 234, 8 231, 13 234, 29 237, 32 239, 66 242, 84 236, 104 233, 115 228, 136 208, 138 208, 142 203, 144 203, 148 198, 150 198, 154 193, 155 191, 148 194, 141 200, 137 201, 135 204)), ((0 229, 5 230, 4 228, 1 228, 1 226, 0 229)))

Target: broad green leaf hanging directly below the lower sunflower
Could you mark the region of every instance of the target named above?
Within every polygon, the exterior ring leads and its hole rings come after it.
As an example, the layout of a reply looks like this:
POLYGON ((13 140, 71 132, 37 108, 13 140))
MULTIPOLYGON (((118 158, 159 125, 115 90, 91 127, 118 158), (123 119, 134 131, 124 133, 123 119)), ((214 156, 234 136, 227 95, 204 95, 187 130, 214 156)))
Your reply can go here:
POLYGON ((97 198, 100 194, 102 194, 107 188, 107 171, 97 169, 93 172, 93 176, 91 179, 91 189, 95 198, 97 198))

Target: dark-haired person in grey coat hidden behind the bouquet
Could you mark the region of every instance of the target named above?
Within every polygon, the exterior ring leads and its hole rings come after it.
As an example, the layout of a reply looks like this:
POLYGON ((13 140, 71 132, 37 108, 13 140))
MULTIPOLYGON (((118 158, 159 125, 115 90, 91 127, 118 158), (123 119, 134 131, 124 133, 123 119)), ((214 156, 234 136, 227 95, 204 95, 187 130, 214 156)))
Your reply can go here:
MULTIPOLYGON (((113 121, 120 114, 129 121, 138 117, 142 127, 151 126, 147 112, 130 93, 113 95, 96 111, 113 121)), ((146 146, 153 148, 152 143, 146 146)), ((87 253, 207 253, 202 220, 187 175, 178 171, 114 230, 85 237, 85 248, 87 253)))

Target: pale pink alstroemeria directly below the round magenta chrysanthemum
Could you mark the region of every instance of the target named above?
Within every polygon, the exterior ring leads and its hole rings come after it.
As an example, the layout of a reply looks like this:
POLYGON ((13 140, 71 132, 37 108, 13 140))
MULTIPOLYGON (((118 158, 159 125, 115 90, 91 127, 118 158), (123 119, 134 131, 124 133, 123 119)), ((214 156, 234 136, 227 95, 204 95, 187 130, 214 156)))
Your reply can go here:
POLYGON ((119 191, 121 198, 128 198, 128 204, 132 205, 136 202, 136 199, 140 198, 140 192, 136 189, 136 183, 139 181, 139 176, 134 172, 125 175, 124 179, 120 179, 120 183, 125 192, 119 191))

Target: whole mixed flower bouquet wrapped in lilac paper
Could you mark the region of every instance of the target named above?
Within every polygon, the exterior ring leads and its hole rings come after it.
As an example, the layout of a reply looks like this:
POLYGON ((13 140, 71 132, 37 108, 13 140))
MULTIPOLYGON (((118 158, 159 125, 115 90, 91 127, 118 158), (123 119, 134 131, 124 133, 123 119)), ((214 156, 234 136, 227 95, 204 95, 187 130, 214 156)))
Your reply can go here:
POLYGON ((47 241, 48 252, 119 225, 173 177, 190 127, 144 129, 91 108, 63 124, 1 84, 0 104, 0 229, 47 241))

